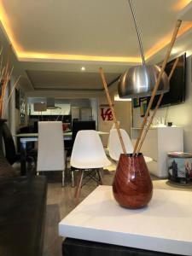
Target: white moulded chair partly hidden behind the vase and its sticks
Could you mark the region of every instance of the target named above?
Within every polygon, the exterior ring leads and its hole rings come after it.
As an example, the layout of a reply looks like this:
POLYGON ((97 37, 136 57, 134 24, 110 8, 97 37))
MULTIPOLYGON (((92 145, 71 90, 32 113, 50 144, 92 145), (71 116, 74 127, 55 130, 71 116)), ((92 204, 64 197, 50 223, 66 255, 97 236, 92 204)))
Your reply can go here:
MULTIPOLYGON (((128 133, 124 129, 120 129, 120 134, 125 144, 126 153, 132 154, 134 148, 131 143, 131 138, 129 137, 128 133)), ((115 161, 118 161, 119 155, 123 153, 123 149, 121 147, 118 132, 116 129, 110 130, 109 138, 108 138, 108 152, 109 152, 110 158, 115 161)), ((153 160, 148 156, 144 156, 144 159, 146 163, 151 162, 153 160)))

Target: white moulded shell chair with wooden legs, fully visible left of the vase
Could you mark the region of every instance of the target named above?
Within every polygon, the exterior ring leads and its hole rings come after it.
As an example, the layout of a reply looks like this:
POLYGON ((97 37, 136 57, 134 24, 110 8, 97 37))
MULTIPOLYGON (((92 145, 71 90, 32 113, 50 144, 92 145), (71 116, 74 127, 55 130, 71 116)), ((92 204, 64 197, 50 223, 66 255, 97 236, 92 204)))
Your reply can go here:
POLYGON ((96 171, 98 179, 91 175, 91 172, 90 177, 92 177, 97 183, 102 184, 102 175, 100 170, 101 168, 110 165, 111 162, 105 154, 101 138, 97 131, 79 131, 75 138, 71 155, 71 166, 80 171, 79 181, 75 192, 77 201, 79 201, 79 193, 82 187, 84 171, 96 171))

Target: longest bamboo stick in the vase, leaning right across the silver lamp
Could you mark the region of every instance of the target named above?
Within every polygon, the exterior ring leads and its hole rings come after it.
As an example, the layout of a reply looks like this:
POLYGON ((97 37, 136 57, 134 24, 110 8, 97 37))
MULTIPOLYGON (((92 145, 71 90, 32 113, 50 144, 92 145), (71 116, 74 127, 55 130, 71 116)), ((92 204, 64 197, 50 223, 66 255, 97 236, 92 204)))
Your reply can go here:
POLYGON ((142 124, 142 127, 141 127, 141 130, 139 132, 139 136, 137 137, 137 142, 136 142, 136 145, 135 145, 135 148, 134 148, 134 151, 133 151, 133 154, 136 154, 137 153, 137 148, 138 148, 138 144, 140 143, 140 140, 143 136, 143 130, 144 130, 144 127, 147 123, 147 119, 148 119, 148 113, 151 109, 151 106, 154 102, 154 96, 156 95, 156 92, 158 90, 158 87, 159 87, 159 84, 160 84, 160 79, 162 77, 162 74, 164 73, 165 71, 165 68, 166 68, 166 63, 170 57, 170 54, 171 54, 171 51, 172 51, 172 46, 173 44, 175 43, 175 40, 177 38, 177 32, 179 30, 179 27, 181 26, 181 23, 182 23, 182 20, 177 20, 177 23, 176 23, 176 26, 175 26, 175 29, 174 29, 174 32, 172 34, 172 40, 171 40, 171 43, 169 44, 168 46, 168 49, 167 49, 167 52, 166 52, 166 57, 165 57, 165 60, 163 61, 163 65, 160 69, 160 73, 159 73, 159 76, 158 76, 158 79, 154 85, 154 90, 153 90, 153 93, 152 93, 152 96, 150 98, 150 101, 148 103, 148 108, 147 108, 147 111, 145 113, 145 116, 144 116, 144 119, 143 119, 143 124, 142 124))

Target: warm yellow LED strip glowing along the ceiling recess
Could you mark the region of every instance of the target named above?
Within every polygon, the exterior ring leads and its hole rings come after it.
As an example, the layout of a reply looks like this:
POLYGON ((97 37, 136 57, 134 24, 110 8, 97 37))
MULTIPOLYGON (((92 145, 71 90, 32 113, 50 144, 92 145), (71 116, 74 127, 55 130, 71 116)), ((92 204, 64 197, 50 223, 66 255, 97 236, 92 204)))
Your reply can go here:
MULTIPOLYGON (((177 4, 176 9, 183 9, 191 0, 183 0, 177 4)), ((93 56, 93 55, 63 55, 63 54, 49 54, 49 53, 37 53, 37 52, 26 52, 23 51, 20 44, 15 40, 14 33, 11 30, 9 19, 3 9, 3 4, 0 1, 0 20, 3 25, 3 30, 6 33, 10 44, 17 55, 19 61, 104 61, 104 62, 119 62, 119 63, 142 63, 141 57, 122 57, 122 56, 93 56)), ((192 22, 187 22, 180 29, 178 36, 183 35, 192 27, 192 22)), ((148 60, 155 55, 160 49, 166 47, 170 42, 172 35, 167 35, 154 45, 153 48, 149 49, 145 54, 145 59, 148 60)))

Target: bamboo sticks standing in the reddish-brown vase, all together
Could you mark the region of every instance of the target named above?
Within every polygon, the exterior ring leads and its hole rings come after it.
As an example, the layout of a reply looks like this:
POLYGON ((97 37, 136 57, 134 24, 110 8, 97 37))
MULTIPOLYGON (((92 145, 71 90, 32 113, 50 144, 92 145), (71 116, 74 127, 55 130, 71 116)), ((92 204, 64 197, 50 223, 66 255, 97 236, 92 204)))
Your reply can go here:
MULTIPOLYGON (((141 126, 141 129, 140 129, 140 132, 139 132, 139 136, 137 137, 137 142, 136 142, 135 147, 134 147, 133 156, 137 156, 139 154, 139 152, 140 152, 140 150, 141 150, 141 148, 143 146, 143 142, 145 140, 145 137, 146 137, 146 135, 148 133, 148 129, 150 128, 150 125, 152 124, 154 116, 155 116, 158 108, 160 107, 160 102, 162 101, 162 98, 164 96, 164 93, 161 93, 161 95, 159 97, 159 100, 157 102, 157 105, 154 108, 154 112, 152 113, 151 116, 149 116, 150 109, 151 109, 152 104, 154 102, 154 96, 156 95, 156 92, 157 92, 158 87, 160 85, 160 79, 161 79, 163 73, 165 72, 166 63, 167 63, 167 61, 168 61, 168 59, 169 59, 169 57, 171 55, 172 47, 173 47, 173 45, 174 45, 174 43, 176 41, 177 33, 178 33, 178 30, 179 30, 179 27, 181 26, 181 23, 182 23, 182 20, 177 20, 174 32, 172 34, 172 40, 171 40, 170 44, 168 45, 168 48, 167 48, 167 51, 166 51, 166 57, 165 57, 165 59, 164 59, 164 61, 162 63, 162 67, 160 68, 159 76, 158 76, 158 78, 156 80, 156 83, 154 84, 154 90, 153 90, 152 95, 150 97, 150 101, 148 102, 148 108, 147 108, 147 111, 146 111, 145 116, 143 118, 143 124, 141 126)), ((168 77, 169 80, 172 78, 172 74, 174 73, 174 70, 175 70, 175 68, 177 66, 177 62, 178 62, 178 58, 174 62, 174 65, 172 67, 172 71, 169 74, 169 77, 168 77)), ((105 89, 106 96, 108 98, 108 104, 109 104, 110 108, 112 109, 114 124, 115 124, 115 128, 118 131, 118 135, 119 135, 119 140, 120 140, 120 143, 121 143, 122 151, 123 151, 124 154, 126 154, 125 144, 124 144, 124 142, 122 140, 122 137, 121 137, 121 134, 120 134, 119 124, 117 122, 116 115, 114 113, 113 104, 112 104, 112 101, 111 101, 111 98, 110 98, 109 92, 108 92, 108 84, 106 82, 106 79, 105 79, 102 67, 100 67, 99 72, 101 74, 102 84, 103 84, 103 87, 105 89)))

